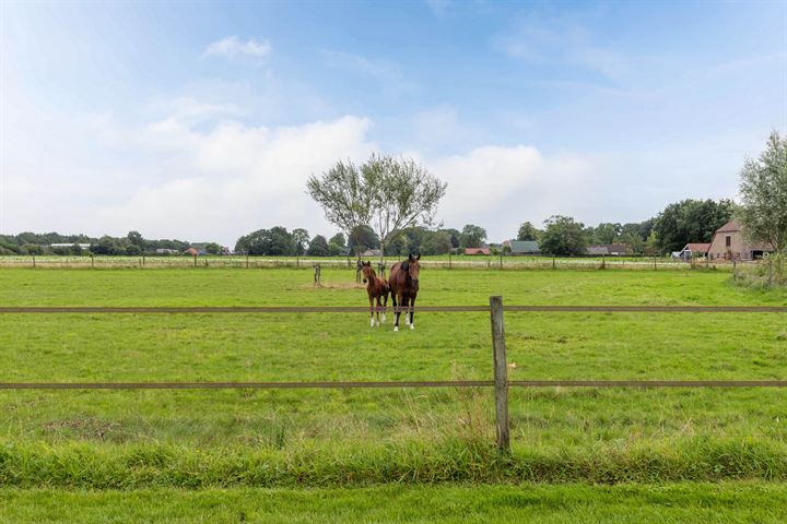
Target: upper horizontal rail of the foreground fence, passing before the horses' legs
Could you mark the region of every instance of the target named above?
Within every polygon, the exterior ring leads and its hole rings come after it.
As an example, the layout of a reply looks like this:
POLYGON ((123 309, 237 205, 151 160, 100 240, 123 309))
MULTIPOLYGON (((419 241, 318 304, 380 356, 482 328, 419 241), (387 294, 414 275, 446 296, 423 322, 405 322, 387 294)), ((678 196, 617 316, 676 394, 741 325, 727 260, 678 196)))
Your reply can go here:
MULTIPOLYGON (((2 313, 368 313, 365 306, 239 306, 239 307, 0 307, 2 313)), ((489 306, 416 306, 374 308, 375 311, 416 313, 489 312, 489 306)), ((787 306, 504 306, 510 312, 589 313, 787 313, 787 306)))

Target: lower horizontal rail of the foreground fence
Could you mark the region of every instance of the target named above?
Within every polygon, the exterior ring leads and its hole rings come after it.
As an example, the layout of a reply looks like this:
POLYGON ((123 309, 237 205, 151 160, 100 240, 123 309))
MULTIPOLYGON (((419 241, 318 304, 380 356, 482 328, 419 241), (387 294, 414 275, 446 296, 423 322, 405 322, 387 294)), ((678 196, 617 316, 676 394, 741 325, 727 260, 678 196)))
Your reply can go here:
MULTIPOLYGON (((492 388, 493 380, 374 382, 0 382, 0 390, 344 390, 492 388)), ((509 380, 509 388, 787 388, 787 380, 509 380)))

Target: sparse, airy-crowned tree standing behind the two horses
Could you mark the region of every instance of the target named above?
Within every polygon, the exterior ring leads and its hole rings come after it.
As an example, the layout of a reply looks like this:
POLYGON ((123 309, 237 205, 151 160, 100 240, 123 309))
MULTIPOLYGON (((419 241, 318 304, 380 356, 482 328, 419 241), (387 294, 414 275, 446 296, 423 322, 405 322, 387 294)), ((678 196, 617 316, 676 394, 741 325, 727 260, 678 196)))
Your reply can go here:
POLYGON ((446 183, 413 159, 372 155, 360 167, 339 162, 321 178, 310 177, 307 191, 342 229, 371 226, 383 260, 386 243, 402 229, 432 224, 446 183))

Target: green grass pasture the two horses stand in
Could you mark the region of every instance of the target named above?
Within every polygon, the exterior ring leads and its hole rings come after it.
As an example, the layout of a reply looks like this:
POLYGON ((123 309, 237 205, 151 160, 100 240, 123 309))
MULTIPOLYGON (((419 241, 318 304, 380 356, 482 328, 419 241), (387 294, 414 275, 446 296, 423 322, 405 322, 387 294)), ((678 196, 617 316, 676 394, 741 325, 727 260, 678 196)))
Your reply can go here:
MULTIPOLYGON (((363 306, 352 271, 7 270, 2 306, 363 306)), ((419 305, 787 305, 686 272, 424 271, 419 305)), ((0 381, 491 378, 486 313, 3 314, 0 381)), ((506 313, 513 379, 787 379, 787 318, 506 313)), ((4 391, 7 486, 787 478, 780 390, 4 391)))

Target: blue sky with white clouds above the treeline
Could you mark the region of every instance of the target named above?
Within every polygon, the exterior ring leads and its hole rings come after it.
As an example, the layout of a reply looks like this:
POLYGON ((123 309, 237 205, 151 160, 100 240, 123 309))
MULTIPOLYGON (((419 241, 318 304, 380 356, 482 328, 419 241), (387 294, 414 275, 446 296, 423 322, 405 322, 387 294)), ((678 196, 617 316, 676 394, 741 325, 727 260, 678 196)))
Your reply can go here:
POLYGON ((733 198, 787 132, 787 2, 2 3, 0 231, 332 234, 338 158, 413 156, 438 218, 638 222, 733 198))

